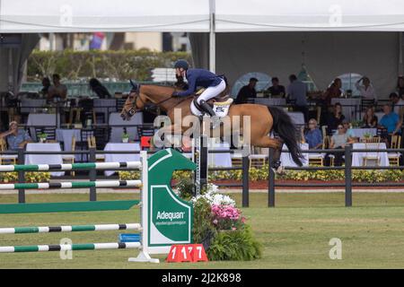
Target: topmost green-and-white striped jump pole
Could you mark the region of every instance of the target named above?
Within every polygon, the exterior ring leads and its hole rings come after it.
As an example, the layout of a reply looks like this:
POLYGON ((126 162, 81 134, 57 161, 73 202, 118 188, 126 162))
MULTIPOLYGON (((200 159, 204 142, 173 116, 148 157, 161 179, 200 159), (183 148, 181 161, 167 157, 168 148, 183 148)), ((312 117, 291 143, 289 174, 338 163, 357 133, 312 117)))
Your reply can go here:
POLYGON ((54 170, 114 170, 119 168, 141 169, 141 161, 87 162, 64 164, 16 164, 0 165, 0 171, 54 171, 54 170))

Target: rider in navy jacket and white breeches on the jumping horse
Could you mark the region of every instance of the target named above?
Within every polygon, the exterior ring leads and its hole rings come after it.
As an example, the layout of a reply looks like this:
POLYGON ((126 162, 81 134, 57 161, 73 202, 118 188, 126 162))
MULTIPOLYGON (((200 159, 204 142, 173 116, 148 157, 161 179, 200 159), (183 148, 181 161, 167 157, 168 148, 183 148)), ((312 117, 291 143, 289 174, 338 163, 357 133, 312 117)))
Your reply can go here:
MULTIPOLYGON (((215 111, 207 104, 207 100, 215 98, 224 91, 226 88, 224 78, 205 69, 190 69, 186 60, 178 60, 174 68, 177 76, 187 79, 189 87, 186 91, 175 91, 172 96, 188 97, 194 94, 198 87, 204 87, 206 90, 198 97, 197 103, 211 117, 215 117, 215 111)), ((191 104, 192 112, 200 114, 198 110, 193 109, 192 105, 193 103, 191 104)))

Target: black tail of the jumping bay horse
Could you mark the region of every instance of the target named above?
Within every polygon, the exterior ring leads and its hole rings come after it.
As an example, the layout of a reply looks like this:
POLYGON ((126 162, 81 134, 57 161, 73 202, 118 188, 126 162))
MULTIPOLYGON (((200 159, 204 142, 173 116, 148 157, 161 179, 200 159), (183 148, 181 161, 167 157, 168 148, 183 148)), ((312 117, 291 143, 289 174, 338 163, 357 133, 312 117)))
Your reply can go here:
POLYGON ((284 140, 294 162, 302 166, 303 154, 297 144, 297 130, 292 119, 283 109, 268 107, 268 110, 274 120, 273 130, 284 140))

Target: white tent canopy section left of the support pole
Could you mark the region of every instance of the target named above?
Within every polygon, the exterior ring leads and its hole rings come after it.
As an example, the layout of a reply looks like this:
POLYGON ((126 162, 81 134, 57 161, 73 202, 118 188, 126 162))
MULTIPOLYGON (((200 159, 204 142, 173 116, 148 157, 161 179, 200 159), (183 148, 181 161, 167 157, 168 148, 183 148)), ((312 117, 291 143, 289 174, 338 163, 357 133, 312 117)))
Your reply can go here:
POLYGON ((85 31, 209 31, 209 3, 200 0, 0 1, 0 32, 85 31))

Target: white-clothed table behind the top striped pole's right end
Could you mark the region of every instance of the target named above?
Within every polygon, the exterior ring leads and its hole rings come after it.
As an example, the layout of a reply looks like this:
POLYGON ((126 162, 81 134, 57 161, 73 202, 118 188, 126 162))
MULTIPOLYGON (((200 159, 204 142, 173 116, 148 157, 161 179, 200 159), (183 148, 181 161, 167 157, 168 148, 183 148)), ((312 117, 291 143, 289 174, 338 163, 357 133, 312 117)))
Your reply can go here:
MULTIPOLYGON (((107 143, 104 148, 105 152, 108 151, 140 151, 139 143, 107 143)), ((105 162, 123 162, 123 161, 140 161, 139 153, 105 153, 105 162)), ((113 175, 115 170, 105 170, 104 174, 109 177, 113 175)))

